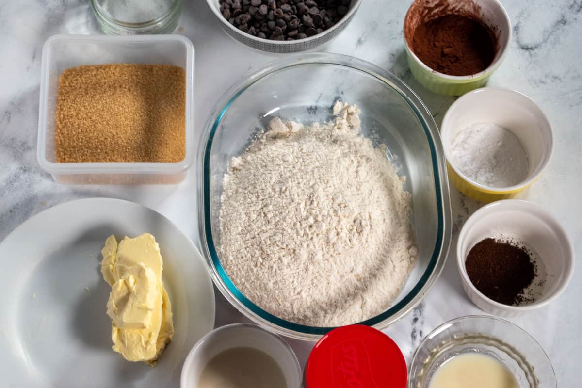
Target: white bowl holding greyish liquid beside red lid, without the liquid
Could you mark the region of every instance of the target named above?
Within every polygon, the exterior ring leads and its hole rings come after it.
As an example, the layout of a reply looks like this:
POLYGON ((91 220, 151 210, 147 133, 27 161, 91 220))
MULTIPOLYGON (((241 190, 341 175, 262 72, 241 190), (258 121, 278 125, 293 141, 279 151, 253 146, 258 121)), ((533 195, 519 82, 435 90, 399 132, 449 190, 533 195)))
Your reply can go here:
POLYGON ((289 345, 277 334, 269 333, 257 325, 234 323, 214 329, 202 337, 190 350, 182 366, 180 386, 197 386, 204 366, 215 355, 236 347, 250 347, 270 355, 281 367, 289 388, 301 386, 301 367, 289 345))

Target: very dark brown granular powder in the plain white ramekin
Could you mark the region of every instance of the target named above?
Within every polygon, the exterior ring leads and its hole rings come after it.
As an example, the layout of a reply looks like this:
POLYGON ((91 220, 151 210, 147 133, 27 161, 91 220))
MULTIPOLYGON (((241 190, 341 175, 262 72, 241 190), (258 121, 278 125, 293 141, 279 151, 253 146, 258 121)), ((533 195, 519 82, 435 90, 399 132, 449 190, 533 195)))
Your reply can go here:
POLYGON ((531 302, 524 291, 533 282, 536 267, 526 248, 485 239, 471 248, 465 267, 471 282, 488 298, 507 305, 531 302))

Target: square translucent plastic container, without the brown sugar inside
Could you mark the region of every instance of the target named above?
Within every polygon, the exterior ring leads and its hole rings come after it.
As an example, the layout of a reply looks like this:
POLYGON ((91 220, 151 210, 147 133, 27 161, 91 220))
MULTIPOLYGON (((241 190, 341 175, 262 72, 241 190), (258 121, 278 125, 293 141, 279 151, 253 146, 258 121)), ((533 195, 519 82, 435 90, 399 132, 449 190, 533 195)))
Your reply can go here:
POLYGON ((182 35, 54 35, 42 47, 37 159, 59 183, 173 184, 194 161, 194 47, 182 35), (147 63, 186 70, 186 156, 178 163, 56 163, 55 110, 59 76, 69 67, 147 63))

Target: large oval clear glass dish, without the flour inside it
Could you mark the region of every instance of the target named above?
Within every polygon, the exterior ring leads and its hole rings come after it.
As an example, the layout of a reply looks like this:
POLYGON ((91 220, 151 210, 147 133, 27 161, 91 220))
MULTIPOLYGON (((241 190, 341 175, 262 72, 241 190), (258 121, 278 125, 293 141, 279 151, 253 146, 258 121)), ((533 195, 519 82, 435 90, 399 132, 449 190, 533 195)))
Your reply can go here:
POLYGON ((219 212, 222 180, 230 158, 242 154, 275 116, 302 123, 325 122, 337 99, 357 104, 365 136, 385 144, 386 158, 406 176, 412 194, 417 263, 392 306, 364 325, 384 329, 428 293, 450 245, 450 203, 445 158, 427 108, 393 74, 337 54, 292 55, 251 73, 219 99, 198 145, 198 209, 203 255, 214 283, 252 321, 285 336, 317 340, 333 328, 298 325, 264 311, 246 298, 221 265, 219 212))

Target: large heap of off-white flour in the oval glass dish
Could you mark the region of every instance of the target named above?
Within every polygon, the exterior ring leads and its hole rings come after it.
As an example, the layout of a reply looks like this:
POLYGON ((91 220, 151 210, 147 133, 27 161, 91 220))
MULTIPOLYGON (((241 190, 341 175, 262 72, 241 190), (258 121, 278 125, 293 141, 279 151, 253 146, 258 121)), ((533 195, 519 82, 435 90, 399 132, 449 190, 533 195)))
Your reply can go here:
POLYGON ((414 266, 410 194, 360 134, 359 109, 303 126, 274 119, 223 181, 222 265, 269 313, 311 326, 390 307, 414 266))

